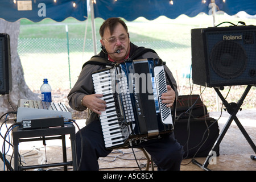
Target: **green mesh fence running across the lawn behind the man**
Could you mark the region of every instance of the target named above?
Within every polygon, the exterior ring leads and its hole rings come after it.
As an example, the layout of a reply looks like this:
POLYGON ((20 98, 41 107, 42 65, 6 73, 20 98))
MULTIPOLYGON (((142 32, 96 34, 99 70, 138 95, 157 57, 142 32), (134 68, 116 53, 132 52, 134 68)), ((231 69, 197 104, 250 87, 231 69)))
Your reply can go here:
MULTIPOLYGON (((183 38, 182 41, 133 43, 155 49, 177 78, 180 74, 175 74, 176 69, 191 64, 191 40, 183 38)), ((39 90, 43 78, 48 78, 53 90, 72 88, 82 64, 94 55, 92 39, 86 39, 84 44, 84 39, 19 38, 18 43, 24 78, 31 90, 39 90)), ((97 40, 97 51, 100 46, 97 40)))

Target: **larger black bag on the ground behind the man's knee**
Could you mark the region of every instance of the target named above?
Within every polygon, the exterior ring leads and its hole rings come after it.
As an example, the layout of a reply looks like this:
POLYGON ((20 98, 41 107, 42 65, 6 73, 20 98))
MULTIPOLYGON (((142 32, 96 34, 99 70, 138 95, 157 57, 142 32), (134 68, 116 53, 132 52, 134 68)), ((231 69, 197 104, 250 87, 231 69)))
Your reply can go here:
MULTIPOLYGON (((190 118, 175 121, 174 134, 184 147, 184 158, 206 157, 216 142, 220 129, 214 118, 190 118)), ((219 156, 219 148, 216 155, 219 156)))

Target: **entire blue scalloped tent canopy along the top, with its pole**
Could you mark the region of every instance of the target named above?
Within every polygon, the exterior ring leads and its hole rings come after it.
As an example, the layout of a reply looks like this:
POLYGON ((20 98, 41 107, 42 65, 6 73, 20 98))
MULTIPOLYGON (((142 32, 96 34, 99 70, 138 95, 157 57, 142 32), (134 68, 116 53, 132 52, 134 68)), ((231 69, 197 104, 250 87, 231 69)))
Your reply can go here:
POLYGON ((20 18, 33 22, 51 18, 61 22, 70 16, 83 21, 88 18, 90 7, 95 54, 97 49, 94 18, 121 17, 131 21, 140 16, 148 20, 159 16, 175 19, 181 14, 192 17, 205 13, 213 15, 214 23, 214 14, 217 11, 224 11, 229 15, 240 11, 256 14, 256 2, 251 0, 1 0, 0 5, 0 18, 9 22, 20 18))

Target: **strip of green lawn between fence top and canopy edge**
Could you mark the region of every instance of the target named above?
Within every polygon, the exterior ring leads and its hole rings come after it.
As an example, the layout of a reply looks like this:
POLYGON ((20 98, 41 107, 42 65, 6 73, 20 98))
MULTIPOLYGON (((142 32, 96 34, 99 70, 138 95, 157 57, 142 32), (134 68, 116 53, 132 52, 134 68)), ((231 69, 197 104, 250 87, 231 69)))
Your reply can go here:
MULTIPOLYGON (((98 29, 104 20, 101 18, 95 19, 97 39, 100 38, 98 29)), ((243 21, 246 24, 256 24, 255 19, 241 19, 236 16, 217 15, 216 22, 232 22, 237 24, 238 21, 243 21)), ((63 22, 55 22, 51 19, 44 19, 41 22, 34 23, 27 19, 20 20, 20 38, 59 38, 65 39, 65 24, 68 24, 70 38, 84 38, 85 26, 88 24, 86 38, 92 39, 92 24, 91 20, 80 22, 75 18, 67 18, 63 22), (88 22, 87 22, 88 21, 88 22)), ((127 22, 130 37, 136 42, 167 40, 172 41, 180 39, 182 36, 190 36, 192 28, 205 28, 213 26, 212 16, 200 14, 193 18, 186 15, 180 15, 176 19, 168 19, 165 16, 160 16, 155 20, 147 20, 138 18, 133 22, 127 22)), ((222 26, 229 26, 223 24, 222 26)))

